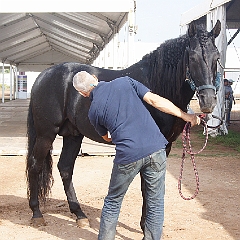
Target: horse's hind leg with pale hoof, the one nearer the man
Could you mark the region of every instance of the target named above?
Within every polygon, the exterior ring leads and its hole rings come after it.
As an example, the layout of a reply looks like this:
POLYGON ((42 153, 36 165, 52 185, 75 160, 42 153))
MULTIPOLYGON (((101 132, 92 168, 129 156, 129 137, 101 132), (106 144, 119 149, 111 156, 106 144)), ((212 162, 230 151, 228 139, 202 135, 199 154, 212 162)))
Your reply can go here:
POLYGON ((75 160, 80 151, 83 136, 64 136, 62 153, 58 162, 58 169, 63 181, 69 209, 77 217, 79 227, 89 226, 89 221, 83 213, 72 183, 75 160))

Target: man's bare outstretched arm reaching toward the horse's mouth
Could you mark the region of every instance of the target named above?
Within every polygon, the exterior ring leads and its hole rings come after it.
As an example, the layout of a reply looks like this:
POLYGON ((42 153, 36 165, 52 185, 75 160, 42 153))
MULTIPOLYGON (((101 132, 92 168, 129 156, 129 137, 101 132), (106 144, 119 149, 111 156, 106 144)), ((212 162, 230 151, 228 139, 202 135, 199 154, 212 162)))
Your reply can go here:
POLYGON ((182 118, 186 122, 191 122, 191 126, 199 125, 201 122, 200 118, 197 115, 183 112, 171 101, 166 98, 160 97, 157 94, 147 92, 144 95, 143 100, 164 113, 182 118))

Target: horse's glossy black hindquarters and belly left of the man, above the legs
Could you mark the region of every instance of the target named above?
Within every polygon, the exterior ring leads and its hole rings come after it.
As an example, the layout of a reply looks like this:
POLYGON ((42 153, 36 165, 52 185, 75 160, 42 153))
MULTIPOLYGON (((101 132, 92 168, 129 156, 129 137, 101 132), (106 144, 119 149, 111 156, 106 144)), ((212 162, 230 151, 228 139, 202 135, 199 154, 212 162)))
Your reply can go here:
POLYGON ((31 108, 38 135, 82 134, 101 141, 88 120, 90 100, 83 98, 72 84, 74 75, 87 71, 109 81, 116 72, 79 63, 52 66, 37 77, 31 91, 31 108))

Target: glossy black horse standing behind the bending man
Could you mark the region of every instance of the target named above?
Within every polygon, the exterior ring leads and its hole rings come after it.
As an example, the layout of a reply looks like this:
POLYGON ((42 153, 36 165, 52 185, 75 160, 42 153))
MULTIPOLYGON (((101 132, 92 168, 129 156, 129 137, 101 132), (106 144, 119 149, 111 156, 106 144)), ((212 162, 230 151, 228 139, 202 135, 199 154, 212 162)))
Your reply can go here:
MULTIPOLYGON (((28 155, 26 175, 29 206, 35 225, 44 224, 39 200, 45 201, 51 189, 52 143, 56 135, 63 136, 63 148, 58 162, 69 208, 77 224, 88 224, 72 183, 75 160, 84 136, 104 142, 88 120, 90 101, 80 96, 72 85, 73 76, 82 70, 94 74, 100 81, 130 76, 146 85, 152 92, 168 98, 183 111, 193 97, 195 85, 202 112, 210 113, 216 105, 215 78, 219 52, 215 38, 221 23, 211 32, 192 22, 186 35, 168 40, 141 61, 124 70, 107 70, 79 63, 63 63, 44 70, 36 79, 31 92, 28 112, 28 155), (192 83, 192 84, 189 84, 192 83)), ((127 97, 127 96, 126 96, 127 97)), ((182 132, 185 122, 147 106, 152 117, 168 139, 167 153, 172 142, 182 132)), ((144 184, 142 184, 144 185, 144 184)), ((143 199, 144 199, 144 189, 143 199)), ((144 224, 145 199, 141 226, 144 224)))

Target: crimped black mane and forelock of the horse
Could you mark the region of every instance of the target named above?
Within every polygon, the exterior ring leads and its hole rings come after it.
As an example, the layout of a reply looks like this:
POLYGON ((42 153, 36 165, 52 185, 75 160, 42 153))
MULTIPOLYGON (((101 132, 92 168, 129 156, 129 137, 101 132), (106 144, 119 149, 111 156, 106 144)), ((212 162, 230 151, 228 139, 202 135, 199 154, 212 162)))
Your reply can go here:
MULTIPOLYGON (((203 56, 208 32, 203 25, 196 26, 203 56)), ((142 62, 148 65, 148 84, 151 90, 163 97, 167 97, 175 104, 182 102, 182 85, 186 79, 187 57, 189 46, 187 34, 170 39, 162 43, 156 50, 145 55, 142 62)))

